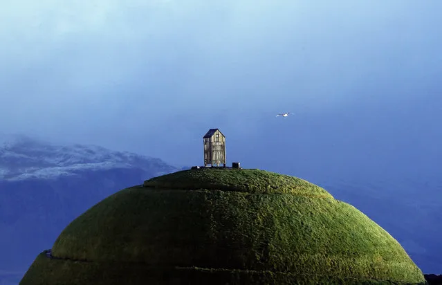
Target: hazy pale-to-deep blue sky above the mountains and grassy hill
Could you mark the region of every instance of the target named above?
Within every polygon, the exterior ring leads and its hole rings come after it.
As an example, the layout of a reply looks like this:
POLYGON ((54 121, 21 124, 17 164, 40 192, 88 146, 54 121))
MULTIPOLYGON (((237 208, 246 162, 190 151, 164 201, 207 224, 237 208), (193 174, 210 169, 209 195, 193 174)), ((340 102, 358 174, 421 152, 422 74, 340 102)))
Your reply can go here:
POLYGON ((202 136, 218 127, 229 164, 307 178, 436 172, 440 11, 438 0, 10 1, 0 131, 201 165, 202 136))

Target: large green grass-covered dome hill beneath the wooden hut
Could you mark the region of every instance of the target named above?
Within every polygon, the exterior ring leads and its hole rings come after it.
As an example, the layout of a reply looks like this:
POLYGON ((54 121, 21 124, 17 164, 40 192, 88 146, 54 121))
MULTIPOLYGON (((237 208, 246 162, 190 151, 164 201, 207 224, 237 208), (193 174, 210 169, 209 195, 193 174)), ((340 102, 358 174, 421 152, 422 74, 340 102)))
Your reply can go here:
POLYGON ((300 178, 192 169, 77 217, 20 284, 425 284, 383 228, 300 178))

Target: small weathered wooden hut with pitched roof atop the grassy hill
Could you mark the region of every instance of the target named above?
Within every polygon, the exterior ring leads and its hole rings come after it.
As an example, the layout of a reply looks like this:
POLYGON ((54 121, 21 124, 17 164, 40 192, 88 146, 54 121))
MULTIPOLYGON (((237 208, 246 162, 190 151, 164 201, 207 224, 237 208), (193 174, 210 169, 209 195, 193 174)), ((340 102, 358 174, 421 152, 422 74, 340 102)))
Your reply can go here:
POLYGON ((225 167, 225 136, 219 129, 210 129, 203 136, 204 143, 204 166, 225 167))

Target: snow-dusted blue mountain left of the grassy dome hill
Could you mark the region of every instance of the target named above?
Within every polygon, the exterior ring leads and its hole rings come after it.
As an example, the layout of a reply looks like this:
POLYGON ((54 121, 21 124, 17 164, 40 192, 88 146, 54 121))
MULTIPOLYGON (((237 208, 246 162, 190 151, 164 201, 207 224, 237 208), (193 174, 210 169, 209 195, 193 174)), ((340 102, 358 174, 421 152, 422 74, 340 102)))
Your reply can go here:
POLYGON ((0 270, 26 270, 68 223, 113 192, 180 169, 97 146, 1 137, 0 270))

